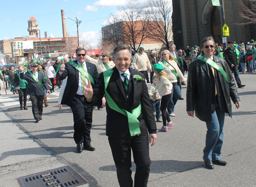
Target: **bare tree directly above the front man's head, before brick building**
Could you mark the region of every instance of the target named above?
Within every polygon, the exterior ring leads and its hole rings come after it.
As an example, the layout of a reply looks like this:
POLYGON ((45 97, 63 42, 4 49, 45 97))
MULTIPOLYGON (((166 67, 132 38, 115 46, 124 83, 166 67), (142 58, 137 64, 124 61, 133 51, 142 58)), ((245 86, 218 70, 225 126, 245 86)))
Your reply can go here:
POLYGON ((123 23, 123 43, 137 52, 141 43, 148 36, 148 16, 139 6, 138 0, 131 0, 124 7, 118 7, 119 20, 123 23))

